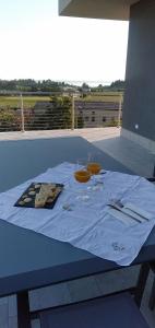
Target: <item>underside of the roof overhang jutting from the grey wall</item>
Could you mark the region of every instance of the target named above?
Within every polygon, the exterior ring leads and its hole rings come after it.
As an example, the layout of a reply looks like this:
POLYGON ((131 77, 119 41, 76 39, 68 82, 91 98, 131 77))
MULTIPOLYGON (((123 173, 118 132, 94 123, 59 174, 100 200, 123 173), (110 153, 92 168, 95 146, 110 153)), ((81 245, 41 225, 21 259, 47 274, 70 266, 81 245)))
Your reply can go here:
POLYGON ((128 21, 130 5, 140 0, 59 0, 62 16, 128 21))

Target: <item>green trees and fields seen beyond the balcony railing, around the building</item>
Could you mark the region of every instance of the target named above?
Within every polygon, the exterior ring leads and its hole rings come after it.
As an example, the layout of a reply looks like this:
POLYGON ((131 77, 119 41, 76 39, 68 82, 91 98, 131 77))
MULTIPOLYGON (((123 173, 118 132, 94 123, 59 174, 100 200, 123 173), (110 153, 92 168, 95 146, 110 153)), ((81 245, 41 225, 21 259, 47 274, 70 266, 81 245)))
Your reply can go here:
MULTIPOLYGON (((0 80, 0 131, 21 129, 21 93, 24 104, 25 129, 49 130, 71 128, 70 93, 76 92, 75 101, 119 103, 120 95, 123 95, 123 89, 124 82, 120 80, 108 86, 99 84, 95 87, 91 87, 86 83, 78 86, 51 80, 0 80), (59 96, 58 94, 52 96, 55 92, 59 92, 59 96), (37 103, 41 102, 49 103, 49 106, 43 105, 41 109, 37 110, 37 103)), ((111 125, 116 126, 117 121, 111 121, 111 125)), ((84 119, 79 114, 75 116, 75 128, 83 127, 84 119)))

